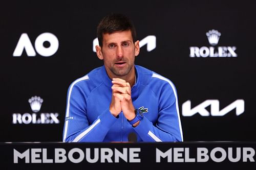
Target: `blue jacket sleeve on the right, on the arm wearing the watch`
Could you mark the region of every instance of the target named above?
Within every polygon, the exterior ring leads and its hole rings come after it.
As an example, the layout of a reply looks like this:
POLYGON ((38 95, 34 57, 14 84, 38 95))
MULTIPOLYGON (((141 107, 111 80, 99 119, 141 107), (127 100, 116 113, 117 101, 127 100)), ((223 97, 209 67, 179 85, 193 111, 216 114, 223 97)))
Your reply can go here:
POLYGON ((154 126, 144 116, 134 130, 145 142, 183 141, 176 88, 168 79, 161 78, 166 83, 159 87, 159 93, 156 94, 158 99, 158 113, 154 113, 158 114, 156 125, 154 126))

